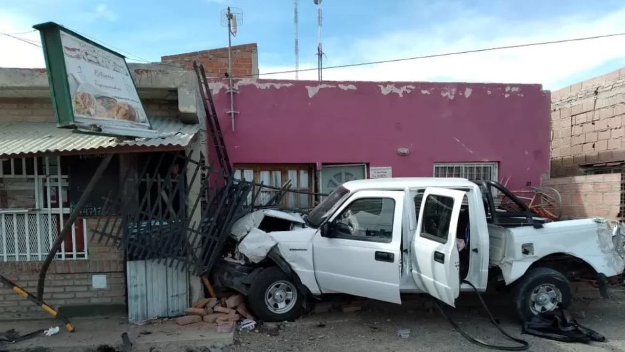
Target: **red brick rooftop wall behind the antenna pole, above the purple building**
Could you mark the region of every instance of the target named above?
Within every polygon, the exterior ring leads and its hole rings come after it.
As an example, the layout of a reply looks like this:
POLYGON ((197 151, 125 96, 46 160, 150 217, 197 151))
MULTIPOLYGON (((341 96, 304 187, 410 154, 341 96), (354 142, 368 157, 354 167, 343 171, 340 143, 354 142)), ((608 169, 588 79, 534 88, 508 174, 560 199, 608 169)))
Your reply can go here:
MULTIPOLYGON (((258 78, 258 47, 256 43, 235 45, 231 47, 231 50, 232 76, 258 78)), ((228 71, 228 48, 161 57, 162 63, 182 65, 188 70, 193 69, 193 61, 198 61, 204 65, 207 76, 224 77, 228 71)))

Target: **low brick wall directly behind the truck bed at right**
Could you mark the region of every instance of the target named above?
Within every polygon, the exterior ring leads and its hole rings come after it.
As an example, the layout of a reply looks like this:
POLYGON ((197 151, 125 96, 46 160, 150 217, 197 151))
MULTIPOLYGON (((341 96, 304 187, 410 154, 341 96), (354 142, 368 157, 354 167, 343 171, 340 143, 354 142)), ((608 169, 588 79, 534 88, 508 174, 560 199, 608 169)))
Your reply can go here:
POLYGON ((621 211, 621 173, 559 177, 542 181, 562 196, 562 216, 617 219, 621 211))

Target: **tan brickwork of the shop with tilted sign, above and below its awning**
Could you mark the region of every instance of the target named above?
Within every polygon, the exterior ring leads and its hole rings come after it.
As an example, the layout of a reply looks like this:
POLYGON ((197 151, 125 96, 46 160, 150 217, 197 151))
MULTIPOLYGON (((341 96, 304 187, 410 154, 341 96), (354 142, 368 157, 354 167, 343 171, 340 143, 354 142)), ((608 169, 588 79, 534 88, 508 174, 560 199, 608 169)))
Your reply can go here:
MULTIPOLYGON (((176 118, 178 102, 145 100, 149 116, 176 118)), ((49 98, 0 98, 0 122, 54 122, 49 98)), ((0 133, 2 131, 0 130, 0 133)), ((46 276, 44 299, 56 308, 83 304, 108 305, 111 311, 126 304, 126 274, 123 254, 113 245, 103 246, 91 241, 91 229, 97 218, 88 219, 88 260, 53 261, 46 276), (92 289, 94 274, 105 274, 106 289, 92 289)), ((79 218, 78 221, 80 221, 79 218)), ((0 273, 35 294, 41 262, 0 262, 0 273)), ((0 285, 0 320, 47 318, 49 314, 15 292, 0 285)))

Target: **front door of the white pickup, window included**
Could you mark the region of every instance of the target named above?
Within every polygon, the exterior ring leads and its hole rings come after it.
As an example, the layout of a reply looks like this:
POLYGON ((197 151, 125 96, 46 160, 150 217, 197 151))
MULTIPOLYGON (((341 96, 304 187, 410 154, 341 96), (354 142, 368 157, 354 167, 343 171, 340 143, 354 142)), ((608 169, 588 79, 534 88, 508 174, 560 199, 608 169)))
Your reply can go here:
POLYGON ((329 219, 331 237, 313 240, 315 276, 323 293, 392 303, 399 298, 404 192, 362 190, 329 219))

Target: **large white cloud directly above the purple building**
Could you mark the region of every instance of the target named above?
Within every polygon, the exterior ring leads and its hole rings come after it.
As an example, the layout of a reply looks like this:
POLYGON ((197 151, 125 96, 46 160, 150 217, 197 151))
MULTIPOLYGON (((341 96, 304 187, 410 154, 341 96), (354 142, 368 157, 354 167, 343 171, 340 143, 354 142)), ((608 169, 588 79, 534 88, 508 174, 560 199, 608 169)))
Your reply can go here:
MULTIPOLYGON (((349 39, 343 39, 346 44, 342 48, 325 50, 331 59, 325 60, 324 66, 619 33, 624 29, 623 18, 625 6, 598 18, 580 14, 514 24, 492 17, 462 16, 447 23, 436 23, 436 28, 430 31, 389 31, 372 38, 352 39, 351 43, 349 39)), ((622 60, 622 66, 625 66, 624 41, 625 36, 617 36, 380 65, 334 68, 324 70, 323 78, 542 83, 547 89, 557 89, 561 88, 559 81, 591 70, 607 61, 622 60)), ((262 50, 259 55, 262 61, 262 50)), ((300 63, 301 61, 300 59, 300 63)), ((316 62, 307 67, 300 64, 300 69, 311 67, 316 68, 316 62)), ((293 69, 294 66, 261 66, 261 78, 294 79, 294 73, 262 75, 293 69)), ((317 71, 300 72, 299 79, 316 80, 317 71)))

